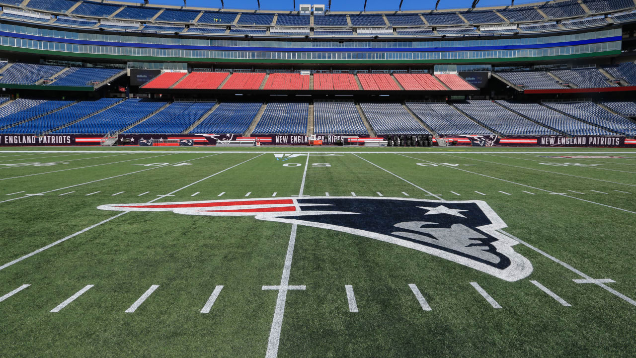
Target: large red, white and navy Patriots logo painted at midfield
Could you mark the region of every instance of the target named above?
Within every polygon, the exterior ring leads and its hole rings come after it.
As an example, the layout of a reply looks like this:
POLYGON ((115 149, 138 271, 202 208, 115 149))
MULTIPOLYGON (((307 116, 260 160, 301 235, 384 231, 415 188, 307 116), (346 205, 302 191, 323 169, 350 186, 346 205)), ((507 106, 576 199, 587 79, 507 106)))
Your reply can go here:
POLYGON ((435 255, 506 281, 532 273, 518 242, 499 233, 506 224, 485 201, 401 197, 280 197, 153 204, 108 204, 101 210, 173 211, 254 216, 356 234, 435 255))

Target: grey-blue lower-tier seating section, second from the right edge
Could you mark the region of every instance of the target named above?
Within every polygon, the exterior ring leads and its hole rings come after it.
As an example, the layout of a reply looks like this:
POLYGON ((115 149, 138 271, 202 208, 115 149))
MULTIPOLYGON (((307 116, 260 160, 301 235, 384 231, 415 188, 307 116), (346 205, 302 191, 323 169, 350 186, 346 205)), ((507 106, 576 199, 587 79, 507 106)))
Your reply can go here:
POLYGON ((636 123, 625 117, 615 115, 593 102, 546 103, 546 106, 614 132, 628 136, 636 135, 636 123))

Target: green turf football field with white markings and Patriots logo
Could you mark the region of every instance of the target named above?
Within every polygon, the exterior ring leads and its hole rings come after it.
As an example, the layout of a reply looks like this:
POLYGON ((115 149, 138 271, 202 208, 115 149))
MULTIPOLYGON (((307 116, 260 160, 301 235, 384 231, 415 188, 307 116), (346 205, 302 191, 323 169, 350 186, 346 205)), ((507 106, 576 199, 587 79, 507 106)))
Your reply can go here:
POLYGON ((0 357, 633 357, 636 150, 2 148, 0 357))

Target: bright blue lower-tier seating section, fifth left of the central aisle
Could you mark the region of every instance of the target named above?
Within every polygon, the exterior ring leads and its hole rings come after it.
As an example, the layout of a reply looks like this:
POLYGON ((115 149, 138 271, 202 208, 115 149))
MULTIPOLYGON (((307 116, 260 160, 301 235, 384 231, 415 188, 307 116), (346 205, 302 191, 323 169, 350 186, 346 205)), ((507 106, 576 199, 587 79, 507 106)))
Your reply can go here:
POLYGON ((14 125, 4 129, 3 133, 15 133, 15 134, 37 134, 41 132, 48 132, 61 127, 62 125, 69 124, 83 117, 91 115, 97 111, 103 110, 108 106, 112 106, 115 103, 121 101, 121 98, 102 98, 97 101, 82 101, 72 104, 66 108, 62 108, 59 111, 43 115, 42 117, 34 120, 29 120, 23 124, 14 125))

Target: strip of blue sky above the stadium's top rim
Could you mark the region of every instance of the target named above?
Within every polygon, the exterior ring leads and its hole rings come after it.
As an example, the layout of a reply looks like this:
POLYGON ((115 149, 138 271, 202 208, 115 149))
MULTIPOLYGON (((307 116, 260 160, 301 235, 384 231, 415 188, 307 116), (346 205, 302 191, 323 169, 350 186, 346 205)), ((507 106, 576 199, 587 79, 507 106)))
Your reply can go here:
MULTIPOLYGON (((139 0, 124 0, 140 2, 139 0)), ((183 6, 183 0, 149 0, 151 4, 166 4, 183 6)), ((293 8, 293 0, 260 0, 261 10, 298 10, 299 4, 329 4, 329 1, 307 1, 296 0, 296 8, 293 8)), ((257 9, 256 0, 223 0, 225 8, 228 9, 257 9)), ((515 4, 530 3, 529 0, 517 0, 515 4)), ((439 9, 443 8, 469 8, 472 0, 441 0, 439 9)), ((509 5, 505 0, 480 0, 478 6, 509 5)), ((204 8, 220 8, 220 0, 188 0, 188 7, 197 6, 204 8)), ((332 0, 331 11, 362 11, 364 0, 332 0)), ((387 10, 395 11, 399 6, 399 0, 367 0, 366 10, 387 10)), ((404 0, 402 10, 427 10, 435 8, 435 0, 404 0)))

